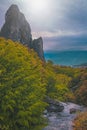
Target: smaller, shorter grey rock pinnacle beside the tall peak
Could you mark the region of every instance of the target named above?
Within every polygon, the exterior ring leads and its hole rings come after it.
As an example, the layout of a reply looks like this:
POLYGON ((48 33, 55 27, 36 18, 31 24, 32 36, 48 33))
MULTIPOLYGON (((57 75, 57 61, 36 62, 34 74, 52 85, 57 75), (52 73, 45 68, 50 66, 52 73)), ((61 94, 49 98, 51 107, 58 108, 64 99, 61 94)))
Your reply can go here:
POLYGON ((42 38, 38 38, 33 40, 32 48, 38 53, 38 56, 44 60, 44 52, 43 52, 43 40, 42 38))

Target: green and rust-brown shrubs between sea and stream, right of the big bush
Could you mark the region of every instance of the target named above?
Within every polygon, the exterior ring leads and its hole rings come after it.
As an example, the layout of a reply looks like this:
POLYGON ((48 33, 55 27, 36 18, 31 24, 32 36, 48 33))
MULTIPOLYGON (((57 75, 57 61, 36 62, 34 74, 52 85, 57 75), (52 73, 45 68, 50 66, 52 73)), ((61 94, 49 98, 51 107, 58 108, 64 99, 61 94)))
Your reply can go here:
MULTIPOLYGON (((47 65, 50 71, 55 73, 56 89, 50 95, 61 101, 72 101, 87 106, 87 69, 58 66, 51 62, 47 65)), ((54 75, 51 76, 54 78, 54 75)))

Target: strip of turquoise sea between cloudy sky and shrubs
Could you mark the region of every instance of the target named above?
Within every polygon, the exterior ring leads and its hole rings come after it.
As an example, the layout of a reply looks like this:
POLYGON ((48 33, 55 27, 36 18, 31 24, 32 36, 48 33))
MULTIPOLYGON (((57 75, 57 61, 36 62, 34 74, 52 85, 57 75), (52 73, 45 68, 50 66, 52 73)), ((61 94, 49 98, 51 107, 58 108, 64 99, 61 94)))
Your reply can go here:
POLYGON ((74 66, 87 64, 87 51, 45 51, 45 59, 54 64, 74 66))

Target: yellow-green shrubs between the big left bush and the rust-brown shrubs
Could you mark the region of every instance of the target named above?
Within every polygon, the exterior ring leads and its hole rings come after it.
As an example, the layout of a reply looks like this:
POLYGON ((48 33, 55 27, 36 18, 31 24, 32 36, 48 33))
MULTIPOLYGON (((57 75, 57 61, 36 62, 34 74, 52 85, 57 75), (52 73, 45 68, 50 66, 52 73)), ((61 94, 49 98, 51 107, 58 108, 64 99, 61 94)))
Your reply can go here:
POLYGON ((48 61, 45 65, 47 95, 60 101, 73 101, 74 95, 69 88, 72 77, 65 74, 65 71, 63 72, 61 68, 59 72, 59 68, 59 66, 53 65, 51 61, 48 61))

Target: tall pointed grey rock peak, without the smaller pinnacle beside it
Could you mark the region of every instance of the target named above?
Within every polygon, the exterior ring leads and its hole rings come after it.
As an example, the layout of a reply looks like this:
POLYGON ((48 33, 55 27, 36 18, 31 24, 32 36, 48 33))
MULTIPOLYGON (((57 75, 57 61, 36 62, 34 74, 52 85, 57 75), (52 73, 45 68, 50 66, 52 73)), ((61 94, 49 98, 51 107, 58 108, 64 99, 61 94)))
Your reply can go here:
POLYGON ((32 41, 30 25, 25 16, 19 11, 17 5, 11 5, 5 15, 5 24, 0 36, 30 46, 32 41))

